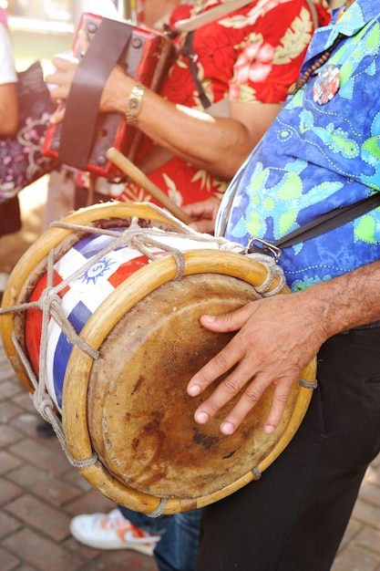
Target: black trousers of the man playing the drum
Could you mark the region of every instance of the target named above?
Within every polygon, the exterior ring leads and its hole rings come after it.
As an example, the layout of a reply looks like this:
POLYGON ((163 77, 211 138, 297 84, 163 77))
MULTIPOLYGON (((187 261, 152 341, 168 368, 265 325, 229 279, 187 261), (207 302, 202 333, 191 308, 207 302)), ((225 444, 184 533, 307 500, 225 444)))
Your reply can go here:
POLYGON ((324 344, 302 426, 253 482, 205 508, 197 571, 327 571, 380 450, 380 328, 324 344))

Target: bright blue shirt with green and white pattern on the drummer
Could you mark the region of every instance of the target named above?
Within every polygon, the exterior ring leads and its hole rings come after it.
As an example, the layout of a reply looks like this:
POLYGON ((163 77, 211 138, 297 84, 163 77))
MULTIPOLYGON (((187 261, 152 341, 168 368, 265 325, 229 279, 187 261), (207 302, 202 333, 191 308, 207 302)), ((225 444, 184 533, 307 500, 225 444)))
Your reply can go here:
MULTIPOLYGON (((313 84, 321 67, 289 96, 221 202, 216 234, 246 245, 269 242, 336 207, 380 190, 380 8, 356 0, 318 28, 302 74, 336 36, 344 40, 324 64, 339 70, 334 97, 320 104, 313 84)), ((330 68, 332 69, 332 68, 330 68)), ((301 244, 283 248, 288 285, 297 291, 380 258, 380 209, 301 244)))

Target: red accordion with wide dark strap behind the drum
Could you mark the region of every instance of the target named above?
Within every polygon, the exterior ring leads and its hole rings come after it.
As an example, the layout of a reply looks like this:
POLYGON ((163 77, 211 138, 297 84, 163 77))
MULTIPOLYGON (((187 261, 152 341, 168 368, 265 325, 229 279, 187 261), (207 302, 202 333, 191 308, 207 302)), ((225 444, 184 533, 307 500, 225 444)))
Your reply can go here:
POLYGON ((118 113, 99 113, 98 103, 112 68, 118 64, 125 73, 153 91, 172 65, 176 48, 168 36, 126 21, 94 14, 82 15, 73 44, 79 65, 65 102, 62 123, 50 125, 43 153, 61 164, 90 171, 109 181, 122 178, 118 167, 108 161, 107 151, 115 147, 134 161, 143 134, 118 113), (79 31, 90 41, 81 54, 79 31))

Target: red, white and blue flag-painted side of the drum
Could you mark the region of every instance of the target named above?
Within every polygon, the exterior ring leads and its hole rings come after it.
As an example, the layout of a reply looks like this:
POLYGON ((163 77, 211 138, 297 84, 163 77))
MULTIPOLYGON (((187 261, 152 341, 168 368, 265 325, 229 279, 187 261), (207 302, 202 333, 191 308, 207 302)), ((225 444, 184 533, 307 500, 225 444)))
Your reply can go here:
MULTIPOLYGON (((121 229, 118 231, 121 232, 121 229)), ((53 285, 58 285, 69 279, 91 258, 112 244, 113 240, 114 238, 108 235, 95 234, 89 235, 73 245, 54 265, 53 285)), ((170 235, 164 232, 162 232, 160 240, 162 244, 180 248, 182 251, 204 249, 205 247, 217 249, 216 243, 198 242, 190 239, 179 241, 176 240, 175 234, 170 235)), ((158 248, 150 248, 150 250, 157 258, 168 255, 168 252, 158 248)), ((61 308, 77 333, 118 285, 127 280, 139 268, 149 263, 151 263, 149 258, 133 247, 119 247, 101 256, 94 265, 91 265, 74 280, 69 280, 59 296, 61 297, 61 308)), ((38 300, 45 289, 46 275, 36 285, 30 301, 38 300)), ((42 312, 39 309, 29 309, 26 317, 26 348, 36 371, 39 370, 41 325, 42 312)), ((48 392, 60 411, 62 410, 62 391, 71 349, 72 345, 67 340, 65 333, 56 321, 51 319, 45 362, 46 383, 48 392)))

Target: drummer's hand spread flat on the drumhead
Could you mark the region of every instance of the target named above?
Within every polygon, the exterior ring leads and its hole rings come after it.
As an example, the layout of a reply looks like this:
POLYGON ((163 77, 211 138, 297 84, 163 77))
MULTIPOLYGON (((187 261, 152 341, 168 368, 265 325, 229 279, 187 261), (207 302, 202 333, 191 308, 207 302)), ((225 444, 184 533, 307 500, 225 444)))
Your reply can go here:
POLYGON ((324 342, 306 292, 272 296, 251 302, 221 316, 202 316, 203 327, 216 332, 237 331, 230 343, 190 379, 188 393, 198 396, 221 375, 226 375, 211 396, 195 411, 204 424, 238 393, 240 399, 221 422, 221 432, 232 434, 263 392, 274 386, 272 408, 264 430, 278 426, 294 382, 324 342))

